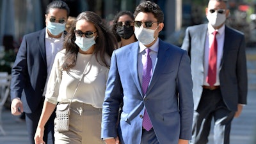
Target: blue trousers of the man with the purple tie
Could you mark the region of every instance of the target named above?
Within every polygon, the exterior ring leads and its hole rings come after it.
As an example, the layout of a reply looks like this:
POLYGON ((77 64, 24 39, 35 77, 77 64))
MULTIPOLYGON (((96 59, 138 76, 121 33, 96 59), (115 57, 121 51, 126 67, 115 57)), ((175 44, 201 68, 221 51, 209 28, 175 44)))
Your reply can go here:
POLYGON ((159 144, 154 129, 150 129, 150 131, 142 129, 140 144, 159 144))

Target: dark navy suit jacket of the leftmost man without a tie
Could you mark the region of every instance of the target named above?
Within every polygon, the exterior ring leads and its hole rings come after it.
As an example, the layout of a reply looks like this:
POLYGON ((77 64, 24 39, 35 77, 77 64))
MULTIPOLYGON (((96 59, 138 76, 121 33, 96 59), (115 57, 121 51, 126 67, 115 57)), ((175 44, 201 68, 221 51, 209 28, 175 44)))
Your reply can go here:
POLYGON ((11 97, 20 97, 24 112, 33 113, 42 101, 47 78, 45 29, 23 37, 12 68, 11 97))

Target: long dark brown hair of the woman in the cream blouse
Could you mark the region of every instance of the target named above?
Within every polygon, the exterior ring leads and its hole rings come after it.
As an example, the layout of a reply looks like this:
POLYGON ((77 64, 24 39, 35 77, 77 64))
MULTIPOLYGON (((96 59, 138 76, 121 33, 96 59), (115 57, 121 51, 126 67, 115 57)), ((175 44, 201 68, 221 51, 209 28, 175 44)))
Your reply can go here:
POLYGON ((97 62, 109 68, 109 64, 106 61, 106 54, 111 57, 113 50, 118 47, 116 38, 112 32, 109 31, 107 23, 104 22, 99 15, 92 11, 84 11, 77 16, 76 21, 71 27, 71 31, 65 37, 63 48, 66 49, 66 54, 62 66, 63 70, 68 70, 76 65, 79 47, 77 47, 74 42, 76 41, 75 29, 78 20, 86 20, 95 26, 97 38, 95 40, 94 54, 97 62))

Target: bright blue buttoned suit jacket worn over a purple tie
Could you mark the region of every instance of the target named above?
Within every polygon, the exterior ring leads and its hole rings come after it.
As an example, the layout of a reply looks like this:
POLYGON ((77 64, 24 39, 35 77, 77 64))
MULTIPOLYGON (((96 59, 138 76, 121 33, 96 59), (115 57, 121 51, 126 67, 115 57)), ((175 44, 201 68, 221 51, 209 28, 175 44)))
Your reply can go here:
POLYGON ((140 143, 145 108, 160 143, 189 140, 193 84, 188 54, 159 40, 156 68, 144 96, 138 77, 138 52, 139 42, 113 52, 102 110, 102 138, 116 137, 118 109, 124 101, 118 123, 121 143, 140 143))

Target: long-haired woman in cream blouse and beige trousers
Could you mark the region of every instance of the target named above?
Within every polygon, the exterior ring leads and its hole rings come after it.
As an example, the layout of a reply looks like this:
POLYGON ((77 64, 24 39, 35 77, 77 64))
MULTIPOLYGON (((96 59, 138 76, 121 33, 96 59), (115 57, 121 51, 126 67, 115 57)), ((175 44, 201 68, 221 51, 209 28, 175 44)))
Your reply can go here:
POLYGON ((55 131, 55 143, 103 143, 100 138, 102 103, 110 57, 117 41, 107 24, 92 11, 79 14, 71 29, 64 49, 56 55, 52 66, 35 134, 38 144, 44 143, 44 127, 56 104, 67 104, 71 99, 69 130, 55 131))

